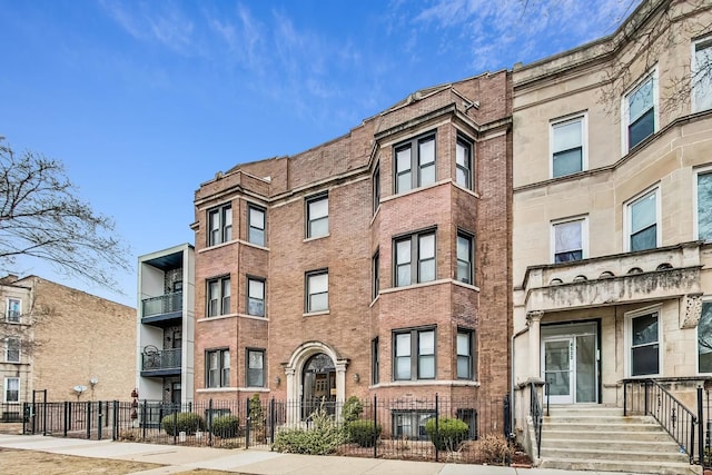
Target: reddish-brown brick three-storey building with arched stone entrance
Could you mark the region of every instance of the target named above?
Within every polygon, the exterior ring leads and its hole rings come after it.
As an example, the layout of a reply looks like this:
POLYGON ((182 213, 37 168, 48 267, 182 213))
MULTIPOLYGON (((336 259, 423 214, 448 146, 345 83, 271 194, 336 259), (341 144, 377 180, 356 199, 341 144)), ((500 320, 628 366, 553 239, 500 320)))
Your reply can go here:
POLYGON ((421 90, 196 191, 196 399, 502 397, 510 75, 421 90))

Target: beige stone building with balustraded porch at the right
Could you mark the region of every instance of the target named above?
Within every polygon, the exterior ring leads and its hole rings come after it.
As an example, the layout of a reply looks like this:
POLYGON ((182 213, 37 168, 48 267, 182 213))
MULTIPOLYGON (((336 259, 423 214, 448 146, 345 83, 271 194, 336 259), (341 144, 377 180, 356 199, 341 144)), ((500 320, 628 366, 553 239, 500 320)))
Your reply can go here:
POLYGON ((712 376, 711 22, 709 1, 644 1, 613 34, 514 68, 524 438, 530 382, 552 406, 623 407, 654 378, 694 408, 712 376))

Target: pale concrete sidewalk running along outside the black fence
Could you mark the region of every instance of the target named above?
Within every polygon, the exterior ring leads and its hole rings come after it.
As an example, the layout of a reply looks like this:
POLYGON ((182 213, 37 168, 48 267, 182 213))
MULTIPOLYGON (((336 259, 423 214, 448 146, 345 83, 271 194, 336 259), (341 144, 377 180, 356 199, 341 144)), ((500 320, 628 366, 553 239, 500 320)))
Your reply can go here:
MULTIPOLYGON (((135 475, 178 474, 211 468, 250 475, 601 475, 603 472, 570 472, 546 468, 512 468, 434 462, 387 461, 382 458, 334 457, 279 454, 266 451, 185 447, 132 442, 86 441, 41 435, 0 434, 0 447, 50 452, 80 457, 115 458, 164 465, 135 475)), ((626 475, 617 473, 617 475, 626 475)))

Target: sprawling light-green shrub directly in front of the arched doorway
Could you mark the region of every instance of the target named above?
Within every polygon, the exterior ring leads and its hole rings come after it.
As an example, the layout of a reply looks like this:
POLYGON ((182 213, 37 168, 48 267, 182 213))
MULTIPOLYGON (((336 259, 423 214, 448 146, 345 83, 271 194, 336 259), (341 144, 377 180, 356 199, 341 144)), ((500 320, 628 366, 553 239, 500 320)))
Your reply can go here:
POLYGON ((346 431, 324 410, 324 403, 312 414, 313 427, 294 428, 277 433, 273 451, 289 454, 328 455, 348 441, 346 431))

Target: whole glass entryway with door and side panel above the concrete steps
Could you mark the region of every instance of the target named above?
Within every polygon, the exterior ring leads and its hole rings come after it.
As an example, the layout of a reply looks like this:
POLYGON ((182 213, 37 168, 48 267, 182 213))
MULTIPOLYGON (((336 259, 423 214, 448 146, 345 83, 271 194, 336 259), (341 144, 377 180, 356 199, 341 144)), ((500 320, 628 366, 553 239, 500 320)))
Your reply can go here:
POLYGON ((542 373, 548 383, 544 394, 552 404, 596 403, 599 394, 595 326, 576 326, 575 333, 553 328, 543 336, 542 373), (581 331, 581 333, 578 333, 581 331))

